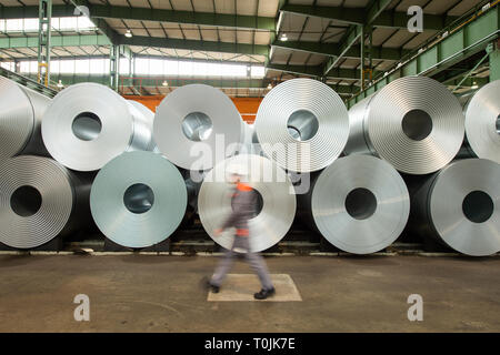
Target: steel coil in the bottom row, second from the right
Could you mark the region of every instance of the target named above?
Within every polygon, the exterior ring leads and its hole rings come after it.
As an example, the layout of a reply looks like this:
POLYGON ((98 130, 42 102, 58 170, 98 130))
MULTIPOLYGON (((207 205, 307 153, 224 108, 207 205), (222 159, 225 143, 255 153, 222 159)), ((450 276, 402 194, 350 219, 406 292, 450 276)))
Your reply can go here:
POLYGON ((401 175, 388 162, 369 155, 338 159, 317 178, 309 199, 318 231, 353 254, 392 244, 410 213, 401 175))

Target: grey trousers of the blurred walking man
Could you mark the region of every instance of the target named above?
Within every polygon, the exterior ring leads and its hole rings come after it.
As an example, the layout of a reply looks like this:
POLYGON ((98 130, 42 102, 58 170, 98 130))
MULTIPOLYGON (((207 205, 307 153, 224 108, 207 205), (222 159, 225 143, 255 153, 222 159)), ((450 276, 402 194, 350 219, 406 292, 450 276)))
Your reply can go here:
POLYGON ((234 236, 234 243, 232 244, 231 250, 226 251, 226 254, 219 265, 216 268, 216 273, 212 276, 210 283, 214 286, 220 286, 229 270, 231 268, 234 262, 234 248, 243 248, 247 251, 244 254, 244 258, 250 264, 252 270, 259 276, 260 283, 262 284, 262 288, 271 290, 273 288, 271 277, 269 276, 268 267, 266 263, 257 253, 250 252, 249 236, 234 236))

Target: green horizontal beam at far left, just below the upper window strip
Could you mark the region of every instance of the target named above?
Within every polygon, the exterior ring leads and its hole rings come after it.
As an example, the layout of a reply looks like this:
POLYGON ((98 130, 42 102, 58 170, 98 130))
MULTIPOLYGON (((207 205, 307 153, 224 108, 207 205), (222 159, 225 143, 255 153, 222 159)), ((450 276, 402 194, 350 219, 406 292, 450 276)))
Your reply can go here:
MULTIPOLYGON (((51 47, 110 45, 103 34, 52 36, 51 47)), ((38 37, 0 38, 0 49, 38 48, 38 37)))

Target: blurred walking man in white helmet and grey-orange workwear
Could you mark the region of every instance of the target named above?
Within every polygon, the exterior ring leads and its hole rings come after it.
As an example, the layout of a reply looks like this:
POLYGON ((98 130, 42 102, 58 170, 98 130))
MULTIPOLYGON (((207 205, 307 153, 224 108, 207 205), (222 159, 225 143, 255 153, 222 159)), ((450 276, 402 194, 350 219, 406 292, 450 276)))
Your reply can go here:
POLYGON ((220 264, 216 268, 216 273, 209 282, 209 286, 213 293, 218 293, 222 281, 234 262, 234 254, 244 253, 244 257, 257 273, 260 283, 262 284, 262 290, 256 293, 253 297, 256 300, 266 300, 269 296, 272 296, 276 291, 262 256, 252 253, 250 250, 249 239, 252 236, 248 229, 248 221, 254 216, 257 210, 257 192, 242 182, 243 176, 248 175, 247 166, 229 166, 228 172, 231 174, 230 183, 236 185, 231 200, 232 213, 229 215, 222 227, 214 231, 214 234, 216 236, 219 236, 229 227, 234 227, 236 234, 231 250, 226 251, 223 258, 220 261, 220 264))

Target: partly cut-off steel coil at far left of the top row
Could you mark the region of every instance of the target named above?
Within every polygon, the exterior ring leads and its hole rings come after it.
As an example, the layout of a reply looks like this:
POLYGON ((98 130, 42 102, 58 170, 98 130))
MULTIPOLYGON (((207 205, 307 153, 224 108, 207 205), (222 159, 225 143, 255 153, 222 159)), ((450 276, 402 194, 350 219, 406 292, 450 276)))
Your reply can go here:
POLYGON ((0 160, 48 154, 40 124, 49 104, 49 98, 0 77, 0 160))

